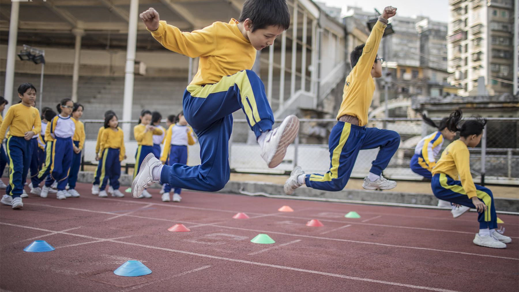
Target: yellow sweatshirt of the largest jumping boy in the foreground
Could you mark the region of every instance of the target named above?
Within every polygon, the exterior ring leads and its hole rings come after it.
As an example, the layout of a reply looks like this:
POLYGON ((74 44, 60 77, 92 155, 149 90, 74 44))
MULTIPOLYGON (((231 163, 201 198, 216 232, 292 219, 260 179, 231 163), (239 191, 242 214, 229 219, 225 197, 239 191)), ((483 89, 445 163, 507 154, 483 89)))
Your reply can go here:
POLYGON ((190 85, 214 84, 222 77, 252 69, 256 49, 243 36, 234 18, 193 32, 181 32, 161 20, 153 37, 165 48, 179 54, 200 57, 198 71, 190 85))

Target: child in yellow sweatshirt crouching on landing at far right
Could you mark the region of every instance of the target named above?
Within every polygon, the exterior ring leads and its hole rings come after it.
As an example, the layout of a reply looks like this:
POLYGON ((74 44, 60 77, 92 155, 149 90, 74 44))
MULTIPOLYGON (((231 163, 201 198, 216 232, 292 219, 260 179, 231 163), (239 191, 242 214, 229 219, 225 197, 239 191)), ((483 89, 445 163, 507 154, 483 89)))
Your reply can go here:
POLYGON ((459 129, 460 138, 445 148, 440 160, 432 169, 431 188, 440 200, 477 209, 480 231, 474 237, 474 244, 506 248, 505 243, 512 240, 502 235, 500 230, 496 230, 494 195, 488 188, 474 184, 470 173, 468 147, 476 147, 480 143, 485 124, 486 120, 482 118, 463 123, 459 129))

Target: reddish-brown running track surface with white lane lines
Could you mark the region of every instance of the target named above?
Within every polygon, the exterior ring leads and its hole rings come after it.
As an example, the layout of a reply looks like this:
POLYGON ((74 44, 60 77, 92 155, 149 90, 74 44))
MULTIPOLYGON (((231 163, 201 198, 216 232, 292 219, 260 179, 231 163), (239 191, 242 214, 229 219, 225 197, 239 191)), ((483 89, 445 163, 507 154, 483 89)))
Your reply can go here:
MULTIPOLYGON (((498 215, 512 243, 472 243, 476 213, 183 192, 153 198, 30 195, 0 207, 2 291, 517 291, 519 220, 498 215), (294 212, 277 209, 290 205, 294 212), (360 219, 344 218, 357 211, 360 219), (238 212, 250 219, 232 219, 238 212), (307 227, 319 219, 324 227, 307 227), (183 223, 191 232, 170 232, 183 223), (275 244, 253 244, 259 233, 275 244), (34 240, 56 250, 26 253, 34 240), (153 273, 117 276, 130 259, 153 273)), ((123 188, 121 188, 123 190, 123 188)))

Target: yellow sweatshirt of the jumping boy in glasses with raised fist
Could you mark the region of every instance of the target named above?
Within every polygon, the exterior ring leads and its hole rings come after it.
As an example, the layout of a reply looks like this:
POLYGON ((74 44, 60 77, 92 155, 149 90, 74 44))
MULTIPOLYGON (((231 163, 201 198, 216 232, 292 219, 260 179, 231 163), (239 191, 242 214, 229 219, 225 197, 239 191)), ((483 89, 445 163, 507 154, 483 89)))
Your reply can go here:
POLYGON ((359 119, 359 126, 367 124, 367 112, 370 109, 373 92, 375 91, 375 81, 371 76, 371 69, 386 26, 380 21, 375 23, 359 61, 346 77, 343 102, 340 104, 337 120, 343 115, 351 115, 359 119))

